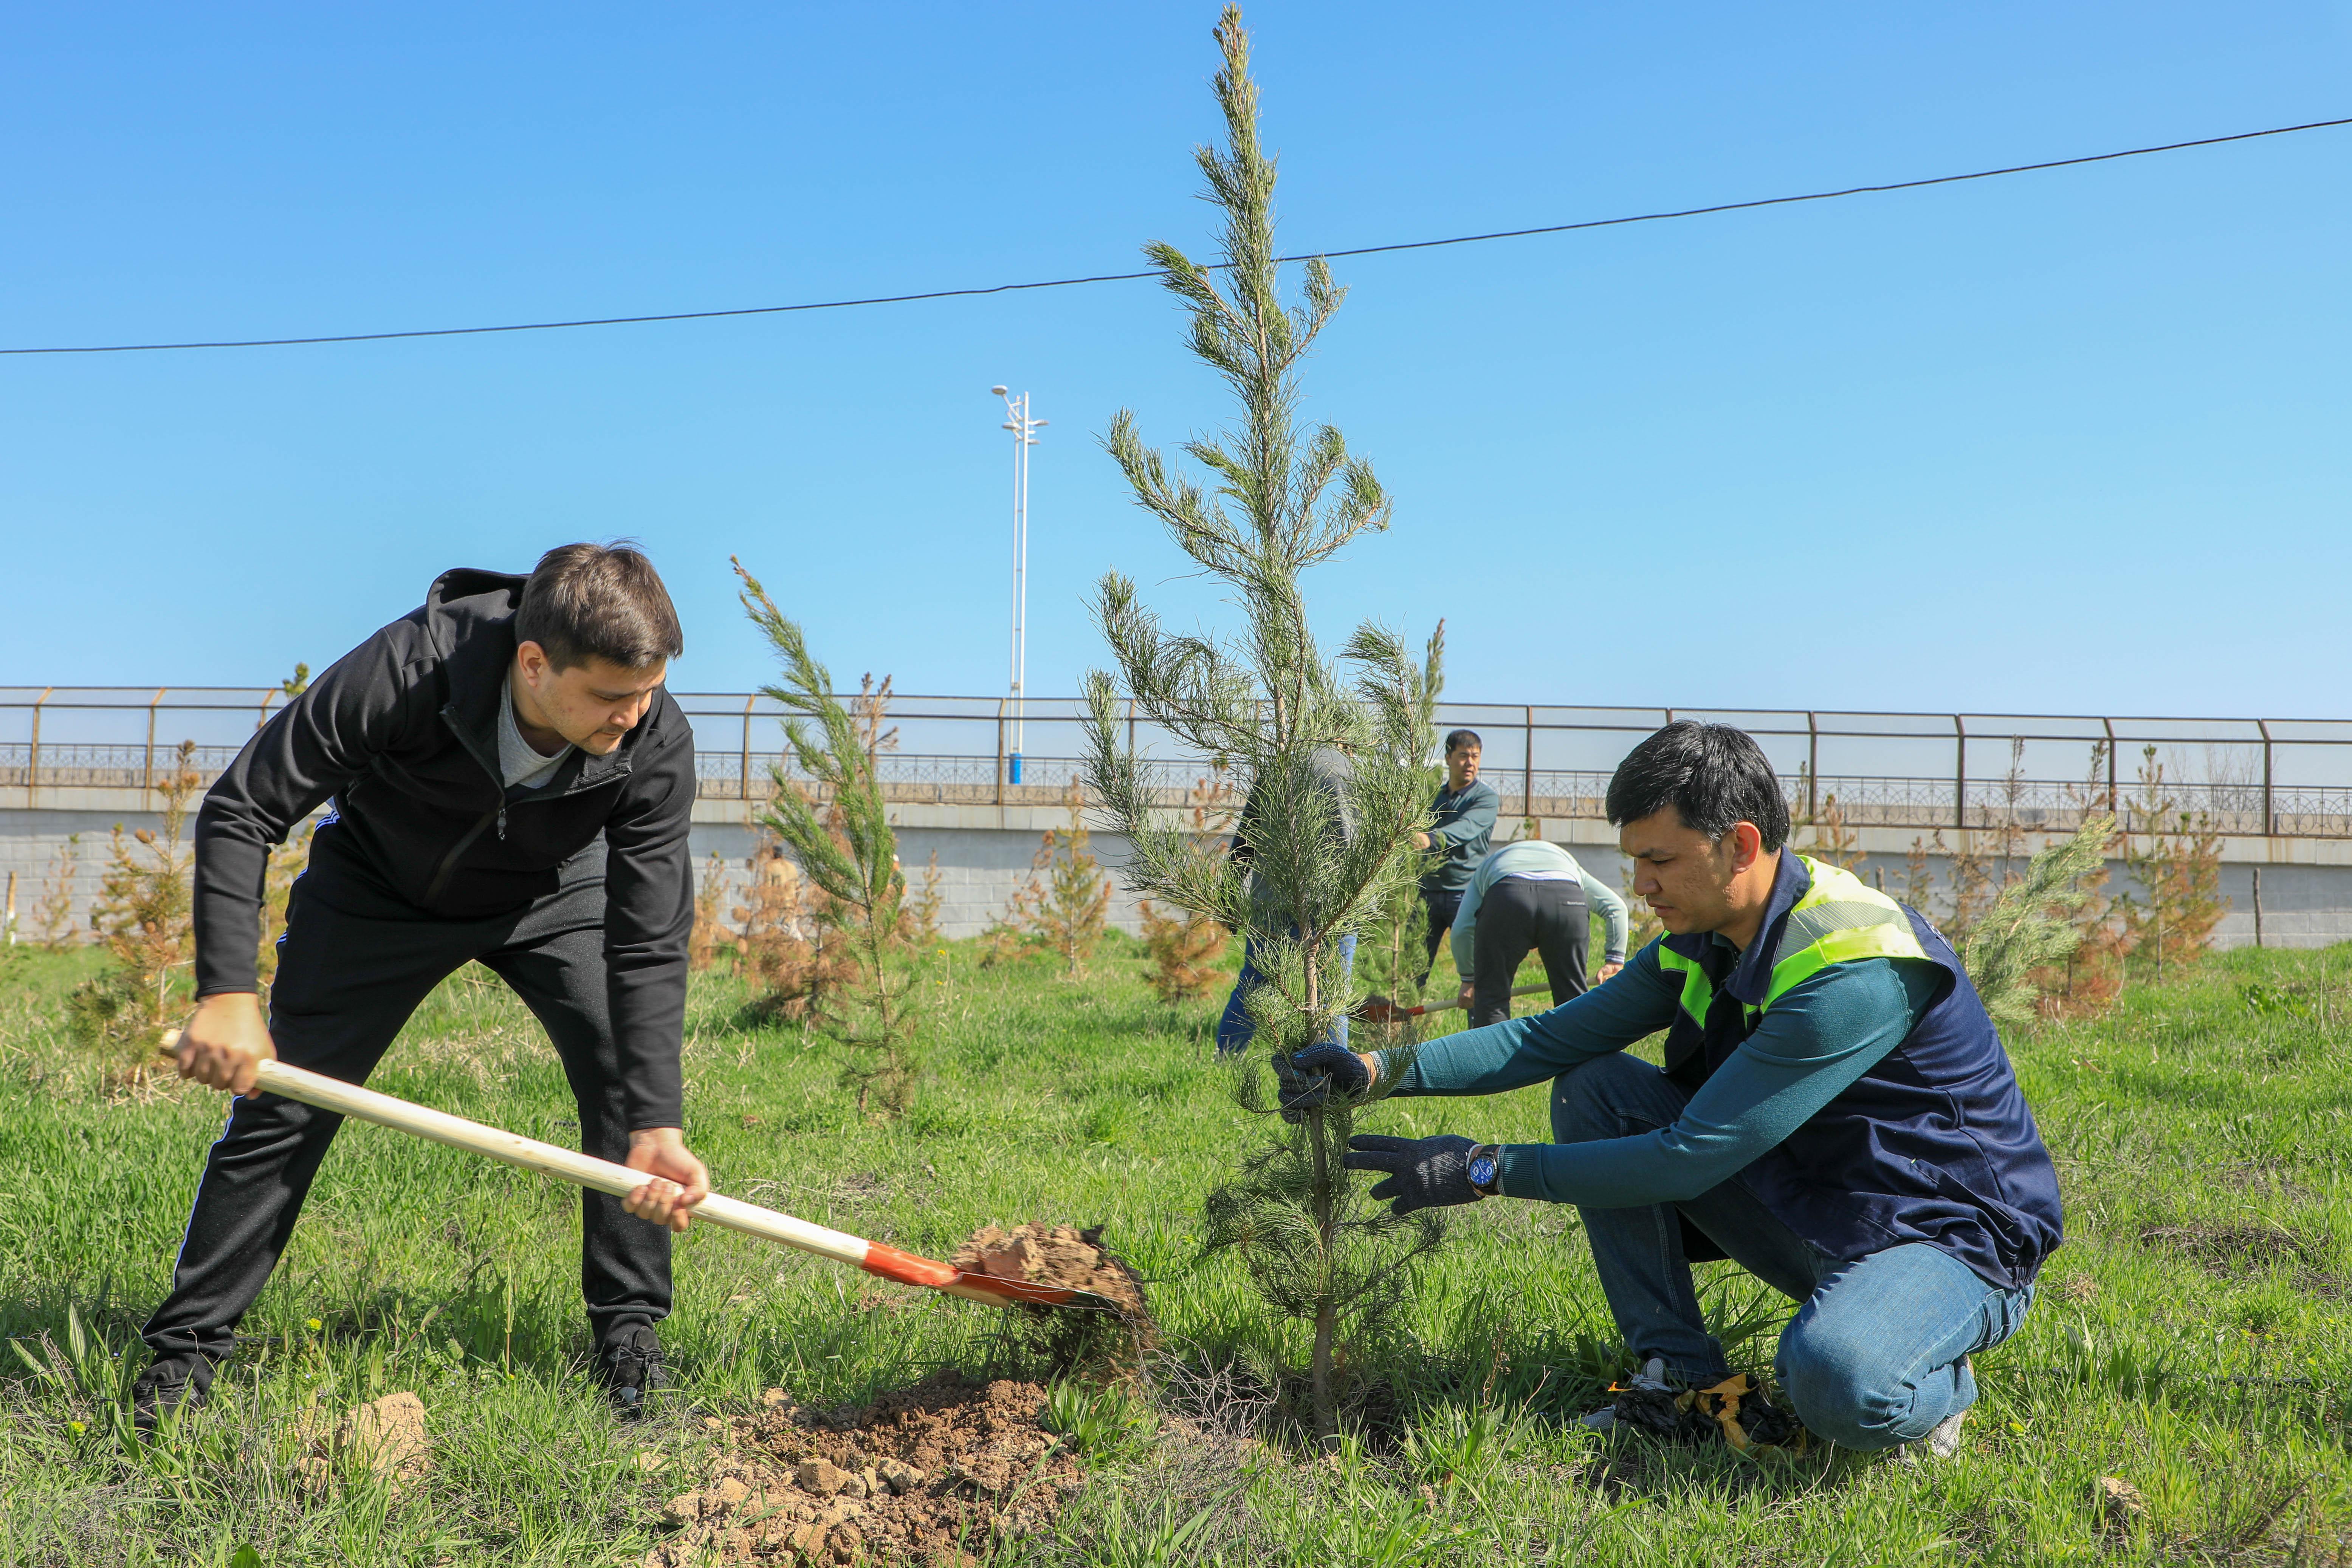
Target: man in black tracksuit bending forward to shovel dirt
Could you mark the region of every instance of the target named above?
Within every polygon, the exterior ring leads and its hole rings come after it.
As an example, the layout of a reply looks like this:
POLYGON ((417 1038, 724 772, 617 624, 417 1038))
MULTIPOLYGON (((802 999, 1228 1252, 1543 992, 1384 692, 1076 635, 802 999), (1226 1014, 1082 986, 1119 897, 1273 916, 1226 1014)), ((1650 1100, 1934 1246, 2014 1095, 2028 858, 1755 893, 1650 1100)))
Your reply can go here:
POLYGON ((179 1070, 240 1098, 143 1331, 141 1422, 212 1385, 341 1124, 256 1095, 259 1065, 360 1084, 468 961, 548 1030, 581 1150, 647 1173, 628 1199, 581 1194, 581 1288, 614 1399, 663 1385, 670 1232, 710 1192, 680 1131, 694 731, 661 682, 682 649, 661 578, 626 545, 548 550, 529 578, 445 571, 205 795, 179 1070), (322 802, 263 1023, 268 849, 322 802))

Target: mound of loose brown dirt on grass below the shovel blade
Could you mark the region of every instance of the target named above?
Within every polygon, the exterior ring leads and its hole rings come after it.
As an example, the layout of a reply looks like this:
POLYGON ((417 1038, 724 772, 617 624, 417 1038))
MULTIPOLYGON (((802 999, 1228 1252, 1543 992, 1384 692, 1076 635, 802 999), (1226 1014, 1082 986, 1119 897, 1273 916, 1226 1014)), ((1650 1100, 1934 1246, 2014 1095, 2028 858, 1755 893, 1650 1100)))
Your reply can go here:
POLYGON ((663 1505, 677 1535, 644 1568, 950 1568, 1044 1528, 1082 1486, 1077 1460, 1037 1425, 1035 1382, 981 1385, 946 1371, 840 1418, 771 1399, 727 1425, 729 1453, 708 1486, 663 1505))

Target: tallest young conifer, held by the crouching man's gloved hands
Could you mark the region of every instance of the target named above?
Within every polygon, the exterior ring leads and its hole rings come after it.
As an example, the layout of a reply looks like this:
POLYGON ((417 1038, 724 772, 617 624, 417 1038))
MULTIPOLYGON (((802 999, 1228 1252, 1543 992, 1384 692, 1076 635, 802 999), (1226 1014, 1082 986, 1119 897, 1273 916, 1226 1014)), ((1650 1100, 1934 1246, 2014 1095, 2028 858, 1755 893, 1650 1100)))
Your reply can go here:
MULTIPOLYGON (((1355 1004, 1341 940, 1414 879, 1411 832, 1428 820, 1418 701, 1428 672, 1378 625, 1359 628, 1338 658, 1308 625, 1305 569, 1385 529, 1390 503, 1338 430, 1296 421, 1301 360, 1338 310, 1341 289, 1317 259, 1303 268, 1301 301, 1282 303, 1275 162, 1258 146, 1240 7, 1225 7, 1216 42, 1228 141, 1200 148, 1197 162, 1223 219, 1225 259, 1211 270, 1174 244, 1145 254, 1190 310, 1192 353, 1225 381, 1240 411, 1223 437, 1183 449, 1209 470, 1214 494, 1171 473, 1129 411, 1117 414, 1105 447, 1136 503, 1230 590, 1247 628, 1237 637, 1167 632, 1136 585, 1108 574, 1096 616, 1117 677, 1087 677, 1087 783, 1129 839, 1129 889, 1249 938, 1265 976, 1247 997, 1256 1046, 1294 1053, 1331 1037, 1355 1004), (1247 877, 1232 860, 1195 853, 1185 823, 1160 809, 1127 741, 1122 686, 1150 724, 1237 769, 1247 877)), ((1256 1070, 1242 1077, 1242 1095, 1251 1110, 1272 1110, 1256 1070)), ((1428 1211, 1390 1218, 1341 1166, 1357 1110, 1345 1095, 1289 1110, 1296 1121, 1275 1124, 1284 1131, 1247 1152, 1235 1180, 1207 1199, 1207 1244, 1232 1251, 1268 1305, 1312 1326, 1308 1387, 1324 1441, 1338 1432, 1336 1352, 1402 1298, 1414 1260, 1437 1241, 1428 1211)))

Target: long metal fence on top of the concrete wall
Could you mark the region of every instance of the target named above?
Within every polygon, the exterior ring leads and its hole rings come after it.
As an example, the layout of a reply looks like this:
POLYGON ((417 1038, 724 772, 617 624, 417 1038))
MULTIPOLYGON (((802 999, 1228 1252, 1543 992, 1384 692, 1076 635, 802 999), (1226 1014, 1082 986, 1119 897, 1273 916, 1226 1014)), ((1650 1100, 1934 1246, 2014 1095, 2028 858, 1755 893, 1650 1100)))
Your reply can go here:
MULTIPOLYGON (((694 719, 706 799, 774 790, 781 708, 757 693, 675 693, 694 719)), ((52 790, 153 795, 193 743, 212 780, 285 705, 275 689, 0 686, 0 809, 52 790)), ((1077 780, 1075 698, 896 696, 882 778, 894 802, 1035 806, 1077 780)), ((1799 816, 1853 827, 2065 830, 2084 811, 2190 813, 2211 830, 2352 837, 2352 722, 2063 715, 1917 715, 1446 703, 1442 729, 1482 738, 1505 816, 1597 818, 1618 757, 1677 717, 1738 724, 1780 771, 1799 816)), ((1216 759, 1185 755, 1129 717, 1162 799, 1176 804, 1216 759)))

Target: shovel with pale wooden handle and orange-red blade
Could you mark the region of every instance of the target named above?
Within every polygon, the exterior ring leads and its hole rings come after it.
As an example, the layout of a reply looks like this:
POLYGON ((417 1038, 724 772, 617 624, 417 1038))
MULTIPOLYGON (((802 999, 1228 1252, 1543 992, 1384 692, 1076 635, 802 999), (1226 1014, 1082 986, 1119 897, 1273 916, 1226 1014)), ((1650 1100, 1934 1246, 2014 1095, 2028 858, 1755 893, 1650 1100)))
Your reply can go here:
MULTIPOLYGON (((167 1030, 162 1048, 172 1051, 176 1044, 179 1030, 167 1030)), ((430 1138, 433 1143, 447 1143, 452 1150, 487 1154, 508 1166, 522 1166, 524 1171, 539 1171, 541 1175, 557 1175, 567 1182, 609 1192, 614 1197, 628 1197, 644 1182, 654 1180, 644 1171, 630 1171, 628 1166, 616 1166, 609 1159, 595 1159, 593 1154, 560 1150, 553 1143, 539 1143, 536 1138, 503 1133, 494 1126, 482 1126, 480 1121, 466 1121, 463 1117, 412 1105, 372 1088, 360 1088, 358 1084, 346 1084, 343 1079, 329 1079, 303 1067, 289 1067, 280 1060, 261 1063, 261 1079, 254 1084, 254 1093, 263 1091, 287 1100, 301 1100, 303 1105, 318 1105, 320 1110, 358 1117, 360 1121, 374 1121, 376 1126, 388 1126, 395 1133, 412 1133, 416 1138, 430 1138)), ((696 1220, 708 1220, 710 1225, 720 1225, 724 1229, 739 1229, 746 1237, 797 1246, 804 1253, 816 1253, 818 1258, 830 1258, 833 1262, 847 1262, 854 1269, 866 1269, 868 1274, 877 1274, 901 1286, 946 1291, 948 1295, 962 1295, 964 1300, 985 1302, 990 1307, 1025 1305, 1117 1312, 1117 1305, 1091 1291, 1040 1286, 1028 1279, 997 1279, 995 1274, 971 1274, 953 1262, 936 1262, 931 1258, 917 1258, 915 1253, 901 1253, 896 1246, 866 1241, 863 1237, 826 1229, 823 1225, 809 1225, 807 1220, 795 1220, 776 1208, 760 1208, 757 1204, 720 1197, 717 1192, 696 1204, 691 1213, 696 1220)))

